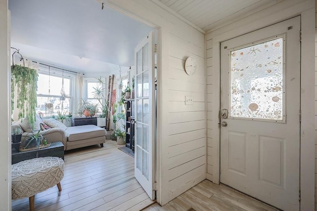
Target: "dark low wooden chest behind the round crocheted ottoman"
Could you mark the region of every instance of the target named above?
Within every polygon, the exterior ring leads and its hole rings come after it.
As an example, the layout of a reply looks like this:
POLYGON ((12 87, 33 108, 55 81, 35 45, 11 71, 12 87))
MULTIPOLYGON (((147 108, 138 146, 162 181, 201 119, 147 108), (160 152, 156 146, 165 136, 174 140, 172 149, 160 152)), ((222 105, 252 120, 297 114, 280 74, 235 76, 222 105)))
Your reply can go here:
POLYGON ((52 142, 51 146, 25 152, 12 151, 11 163, 16 164, 20 161, 39 157, 58 157, 64 160, 64 145, 61 141, 52 142))

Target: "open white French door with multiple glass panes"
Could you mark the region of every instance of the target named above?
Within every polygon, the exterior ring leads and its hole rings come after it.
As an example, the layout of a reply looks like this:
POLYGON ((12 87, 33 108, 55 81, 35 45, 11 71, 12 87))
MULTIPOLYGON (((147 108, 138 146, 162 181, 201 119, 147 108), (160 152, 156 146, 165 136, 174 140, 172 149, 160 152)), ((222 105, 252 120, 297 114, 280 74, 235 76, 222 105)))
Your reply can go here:
POLYGON ((155 82, 154 32, 135 48, 135 178, 155 199, 155 82))

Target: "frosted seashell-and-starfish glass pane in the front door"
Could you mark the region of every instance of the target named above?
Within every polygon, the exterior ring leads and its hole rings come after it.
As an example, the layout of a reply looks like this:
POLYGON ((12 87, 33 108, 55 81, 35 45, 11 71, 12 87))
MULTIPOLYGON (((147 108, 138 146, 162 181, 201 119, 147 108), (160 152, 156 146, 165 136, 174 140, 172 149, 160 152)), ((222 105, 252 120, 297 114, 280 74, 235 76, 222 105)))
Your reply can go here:
POLYGON ((230 51, 230 117, 285 120, 283 37, 230 51))

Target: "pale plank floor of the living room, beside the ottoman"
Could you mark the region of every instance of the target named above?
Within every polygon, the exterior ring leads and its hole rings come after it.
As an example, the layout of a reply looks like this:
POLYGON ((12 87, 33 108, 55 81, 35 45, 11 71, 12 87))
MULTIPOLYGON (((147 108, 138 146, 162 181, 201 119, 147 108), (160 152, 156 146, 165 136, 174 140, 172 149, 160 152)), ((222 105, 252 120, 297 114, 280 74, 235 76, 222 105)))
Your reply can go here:
MULTIPOLYGON (((65 151, 64 177, 57 186, 35 195, 36 211, 139 211, 150 200, 134 178, 134 158, 115 141, 65 151)), ((28 211, 29 199, 12 201, 12 211, 28 211)))

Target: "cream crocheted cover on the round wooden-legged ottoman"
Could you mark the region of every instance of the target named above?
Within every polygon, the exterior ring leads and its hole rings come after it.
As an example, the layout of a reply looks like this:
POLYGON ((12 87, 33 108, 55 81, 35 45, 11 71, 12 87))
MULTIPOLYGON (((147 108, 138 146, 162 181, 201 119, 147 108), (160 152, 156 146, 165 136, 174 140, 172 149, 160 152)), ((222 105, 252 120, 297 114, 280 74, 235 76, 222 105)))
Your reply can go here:
POLYGON ((64 161, 57 157, 34 158, 13 164, 12 199, 31 197, 61 181, 64 161))

